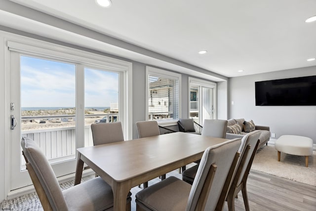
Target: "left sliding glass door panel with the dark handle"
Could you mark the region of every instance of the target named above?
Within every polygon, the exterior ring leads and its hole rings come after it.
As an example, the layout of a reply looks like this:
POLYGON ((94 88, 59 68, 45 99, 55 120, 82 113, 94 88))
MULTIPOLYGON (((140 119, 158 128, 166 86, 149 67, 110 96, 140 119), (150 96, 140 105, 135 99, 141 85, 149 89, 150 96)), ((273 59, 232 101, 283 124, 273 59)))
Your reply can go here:
POLYGON ((21 137, 37 142, 56 176, 74 172, 76 65, 12 52, 10 84, 11 190, 32 184, 20 150, 21 137))

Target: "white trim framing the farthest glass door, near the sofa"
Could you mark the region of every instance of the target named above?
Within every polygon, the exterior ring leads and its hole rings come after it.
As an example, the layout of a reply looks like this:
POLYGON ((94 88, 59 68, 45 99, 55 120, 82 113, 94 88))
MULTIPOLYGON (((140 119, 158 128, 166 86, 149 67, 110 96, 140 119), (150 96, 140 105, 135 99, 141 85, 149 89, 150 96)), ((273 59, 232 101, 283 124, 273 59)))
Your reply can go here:
POLYGON ((209 81, 205 81, 205 80, 201 80, 201 79, 196 79, 196 78, 192 78, 189 77, 189 84, 188 84, 188 95, 189 95, 189 102, 188 102, 188 110, 189 113, 188 115, 190 116, 190 86, 191 84, 196 84, 198 86, 204 86, 204 87, 208 87, 208 88, 213 88, 214 93, 213 93, 213 110, 214 110, 214 119, 217 119, 217 84, 214 82, 209 82, 209 81))

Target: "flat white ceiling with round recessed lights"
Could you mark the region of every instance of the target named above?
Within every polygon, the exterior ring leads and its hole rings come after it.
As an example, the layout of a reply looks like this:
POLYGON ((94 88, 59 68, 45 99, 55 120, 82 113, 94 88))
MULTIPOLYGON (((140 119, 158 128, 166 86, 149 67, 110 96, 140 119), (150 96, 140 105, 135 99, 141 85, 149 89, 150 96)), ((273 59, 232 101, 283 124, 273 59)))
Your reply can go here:
POLYGON ((316 60, 307 61, 316 57, 316 22, 305 23, 316 15, 316 0, 112 0, 110 8, 95 0, 11 1, 149 50, 107 48, 146 64, 159 66, 146 53, 154 52, 171 58, 168 68, 176 70, 180 61, 228 78, 316 66, 316 60))

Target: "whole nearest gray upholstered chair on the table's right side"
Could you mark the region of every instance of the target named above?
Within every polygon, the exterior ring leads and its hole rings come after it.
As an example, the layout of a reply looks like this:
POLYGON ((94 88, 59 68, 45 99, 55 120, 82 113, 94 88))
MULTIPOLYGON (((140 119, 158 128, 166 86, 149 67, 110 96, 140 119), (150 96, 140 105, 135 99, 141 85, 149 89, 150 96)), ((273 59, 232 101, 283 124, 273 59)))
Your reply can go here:
POLYGON ((193 185, 168 177, 136 194, 137 211, 214 211, 224 201, 236 168, 241 139, 205 150, 193 185))

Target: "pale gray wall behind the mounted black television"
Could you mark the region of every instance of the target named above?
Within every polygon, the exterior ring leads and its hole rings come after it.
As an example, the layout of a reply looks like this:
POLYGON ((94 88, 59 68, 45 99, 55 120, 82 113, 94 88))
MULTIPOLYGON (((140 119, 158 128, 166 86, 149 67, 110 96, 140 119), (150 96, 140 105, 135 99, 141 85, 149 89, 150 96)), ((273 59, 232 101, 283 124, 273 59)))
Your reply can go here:
POLYGON ((270 126, 276 138, 284 134, 302 135, 312 138, 315 144, 316 106, 255 106, 256 81, 313 75, 316 75, 316 66, 231 78, 229 119, 253 120, 256 125, 270 126))

